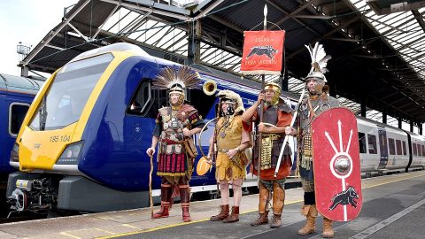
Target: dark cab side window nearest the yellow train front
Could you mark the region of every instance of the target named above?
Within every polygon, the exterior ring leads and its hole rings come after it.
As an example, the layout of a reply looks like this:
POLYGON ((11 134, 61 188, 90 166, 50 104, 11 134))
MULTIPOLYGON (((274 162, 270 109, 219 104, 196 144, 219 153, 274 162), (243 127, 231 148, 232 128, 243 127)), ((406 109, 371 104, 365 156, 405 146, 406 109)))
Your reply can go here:
POLYGON ((150 109, 151 101, 151 82, 144 79, 140 82, 139 87, 135 92, 135 96, 131 99, 131 104, 128 105, 127 112, 129 114, 145 115, 150 109))

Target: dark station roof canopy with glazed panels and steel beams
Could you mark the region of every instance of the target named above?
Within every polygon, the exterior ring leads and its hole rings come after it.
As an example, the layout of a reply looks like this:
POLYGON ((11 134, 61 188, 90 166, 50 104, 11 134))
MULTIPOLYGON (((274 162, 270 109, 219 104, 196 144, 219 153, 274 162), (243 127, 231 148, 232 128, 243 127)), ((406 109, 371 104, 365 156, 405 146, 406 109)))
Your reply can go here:
MULTIPOLYGON (((198 63, 239 73, 243 31, 262 29, 267 4, 267 29, 286 31, 290 91, 302 90, 299 79, 310 70, 305 45, 321 42, 332 56, 331 94, 425 122, 425 1, 170 1, 81 0, 19 66, 52 73, 81 52, 113 42, 135 43, 184 64, 189 42, 200 42, 198 63)), ((352 106, 359 111, 359 104, 352 106)))

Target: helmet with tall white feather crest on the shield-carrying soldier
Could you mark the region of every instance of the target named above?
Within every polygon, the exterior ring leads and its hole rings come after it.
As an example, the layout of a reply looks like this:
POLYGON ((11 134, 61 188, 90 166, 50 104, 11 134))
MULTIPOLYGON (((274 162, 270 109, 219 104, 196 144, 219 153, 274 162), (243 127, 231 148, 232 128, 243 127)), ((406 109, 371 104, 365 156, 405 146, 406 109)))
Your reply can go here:
POLYGON ((313 48, 310 45, 305 47, 310 52, 310 57, 312 58, 312 68, 310 69, 310 73, 305 77, 305 83, 308 81, 316 81, 314 89, 316 89, 316 94, 320 95, 327 82, 324 73, 328 73, 326 66, 331 57, 326 55, 323 45, 319 44, 319 42, 316 42, 313 48))

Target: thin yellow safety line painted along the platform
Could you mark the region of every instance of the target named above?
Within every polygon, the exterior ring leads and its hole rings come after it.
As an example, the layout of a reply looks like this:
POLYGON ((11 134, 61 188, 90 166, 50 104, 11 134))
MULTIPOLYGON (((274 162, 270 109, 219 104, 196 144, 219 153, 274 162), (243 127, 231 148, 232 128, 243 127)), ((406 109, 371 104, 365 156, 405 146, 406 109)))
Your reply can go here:
MULTIPOLYGON (((425 173, 421 173, 421 175, 415 175, 412 177, 406 177, 406 178, 402 178, 402 179, 398 179, 398 180, 394 180, 394 181, 385 181, 382 183, 377 183, 371 186, 367 186, 367 187, 362 187, 362 189, 370 189, 370 188, 375 188, 384 184, 389 184, 389 183, 393 183, 396 181, 404 181, 404 180, 408 180, 408 179, 413 179, 413 178, 417 178, 417 177, 422 177, 424 176, 425 173)), ((304 200, 297 200, 297 201, 290 201, 286 204, 297 204, 297 203, 301 203, 304 202, 304 200)), ((248 211, 248 212, 242 212, 240 214, 245 214, 245 213, 251 213, 251 212, 258 212, 258 210, 252 210, 252 211, 248 211)), ((171 227, 179 227, 179 226, 184 226, 184 225, 189 225, 189 224, 193 224, 193 223, 197 223, 197 222, 203 222, 203 221, 207 221, 210 219, 202 219, 202 220, 192 220, 189 222, 180 222, 180 223, 176 223, 176 224, 171 224, 171 225, 166 225, 166 226, 162 226, 162 227, 154 227, 154 228, 149 228, 149 229, 142 229, 142 230, 138 230, 138 231, 134 231, 134 232, 128 232, 128 233, 122 233, 122 234, 117 234, 117 235, 108 235, 108 236, 102 236, 102 237, 97 237, 99 239, 108 239, 108 238, 115 238, 115 237, 120 237, 120 236, 125 236, 125 235, 135 235, 135 234, 142 234, 142 233, 147 233, 147 232, 153 232, 153 231, 158 231, 161 229, 166 229, 166 228, 171 228, 171 227)), ((125 227, 134 227, 128 224, 122 224, 122 226, 125 227)), ((135 227, 138 228, 138 227, 135 227)))

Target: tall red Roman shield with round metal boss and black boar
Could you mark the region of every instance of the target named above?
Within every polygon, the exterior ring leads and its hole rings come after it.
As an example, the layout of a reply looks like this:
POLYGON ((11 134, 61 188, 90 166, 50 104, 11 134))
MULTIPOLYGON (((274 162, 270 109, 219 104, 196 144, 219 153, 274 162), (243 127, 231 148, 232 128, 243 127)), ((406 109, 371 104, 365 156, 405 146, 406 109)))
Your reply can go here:
POLYGON ((322 112, 312 122, 317 211, 329 220, 354 220, 362 205, 357 120, 347 108, 322 112))

